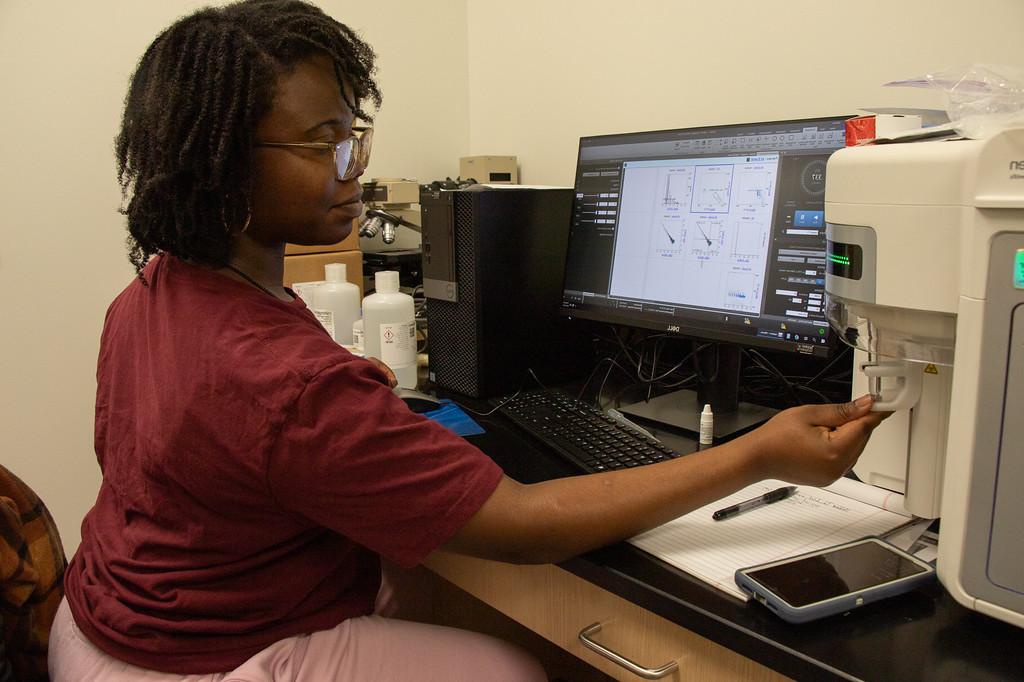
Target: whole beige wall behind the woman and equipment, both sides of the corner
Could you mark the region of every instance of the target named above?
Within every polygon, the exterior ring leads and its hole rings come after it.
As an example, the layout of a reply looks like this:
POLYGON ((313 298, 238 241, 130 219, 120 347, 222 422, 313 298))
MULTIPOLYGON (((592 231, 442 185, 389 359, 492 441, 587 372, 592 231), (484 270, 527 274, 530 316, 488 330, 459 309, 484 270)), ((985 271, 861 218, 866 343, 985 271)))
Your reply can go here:
MULTIPOLYGON (((200 4, 0 2, 0 462, 39 489, 69 551, 98 484, 97 337, 132 276, 112 140, 135 60, 200 4)), ((1024 67, 1019 0, 863 0, 860 20, 831 0, 321 4, 380 54, 370 176, 435 179, 467 153, 514 154, 522 181, 569 184, 580 135, 941 105, 880 84, 1024 67)))

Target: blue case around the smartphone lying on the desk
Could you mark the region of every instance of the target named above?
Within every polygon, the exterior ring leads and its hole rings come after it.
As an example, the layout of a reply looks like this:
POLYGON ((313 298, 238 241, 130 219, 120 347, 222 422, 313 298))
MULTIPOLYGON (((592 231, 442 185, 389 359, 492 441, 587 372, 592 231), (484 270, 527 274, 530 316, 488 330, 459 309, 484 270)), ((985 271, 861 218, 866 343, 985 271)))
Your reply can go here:
MULTIPOLYGON (((795 565, 794 568, 799 570, 800 566, 795 565)), ((885 599, 886 597, 909 592, 910 590, 913 590, 925 583, 931 582, 934 579, 935 567, 932 564, 927 561, 923 561, 915 556, 907 554, 903 550, 874 537, 843 543, 841 545, 836 545, 834 547, 828 547, 814 552, 807 552, 805 554, 780 559, 778 561, 770 561, 756 566, 739 568, 735 573, 736 585, 739 586, 739 589, 746 594, 750 594, 754 597, 754 599, 767 606, 771 611, 788 623, 807 623, 809 621, 816 621, 836 613, 845 613, 859 606, 863 606, 864 604, 869 604, 871 602, 879 601, 880 599, 885 599), (884 547, 887 552, 891 552, 892 554, 902 557, 903 559, 921 566, 924 570, 913 576, 893 579, 881 585, 860 590, 853 590, 802 606, 793 605, 776 594, 770 587, 762 584, 749 574, 764 568, 771 568, 785 564, 798 564, 800 561, 820 556, 822 554, 837 553, 836 556, 840 556, 838 553, 841 550, 867 542, 877 543, 881 547, 884 547)))

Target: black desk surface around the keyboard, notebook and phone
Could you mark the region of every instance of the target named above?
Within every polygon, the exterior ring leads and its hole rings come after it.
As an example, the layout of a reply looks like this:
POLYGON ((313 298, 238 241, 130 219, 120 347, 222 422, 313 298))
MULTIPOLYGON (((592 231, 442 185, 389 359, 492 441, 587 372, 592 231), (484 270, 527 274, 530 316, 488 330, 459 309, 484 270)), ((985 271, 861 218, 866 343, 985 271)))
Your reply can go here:
MULTIPOLYGON (((474 417, 487 432, 469 440, 509 476, 536 482, 575 473, 500 415, 474 417)), ((790 625, 627 543, 560 566, 798 680, 1024 680, 1024 630, 961 606, 939 585, 790 625)))

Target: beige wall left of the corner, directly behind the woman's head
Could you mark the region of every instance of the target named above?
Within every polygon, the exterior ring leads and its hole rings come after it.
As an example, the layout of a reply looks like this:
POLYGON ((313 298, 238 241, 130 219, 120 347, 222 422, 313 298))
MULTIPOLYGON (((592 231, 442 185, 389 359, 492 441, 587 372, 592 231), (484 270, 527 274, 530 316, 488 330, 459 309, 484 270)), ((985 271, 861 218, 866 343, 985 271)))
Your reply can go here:
MULTIPOLYGON (((127 79, 161 29, 206 4, 0 2, 0 462, 39 492, 69 553, 99 483, 103 312, 133 275, 113 155, 127 79)), ((321 5, 380 55, 368 176, 457 174, 469 147, 465 0, 321 5), (444 40, 425 30, 435 23, 444 40)))

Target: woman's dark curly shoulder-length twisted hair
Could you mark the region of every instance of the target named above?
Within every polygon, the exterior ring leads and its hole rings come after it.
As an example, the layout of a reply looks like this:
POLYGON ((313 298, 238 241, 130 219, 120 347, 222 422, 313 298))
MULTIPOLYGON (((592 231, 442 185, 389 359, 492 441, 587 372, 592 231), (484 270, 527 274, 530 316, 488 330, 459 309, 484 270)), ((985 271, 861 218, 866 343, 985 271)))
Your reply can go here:
POLYGON ((141 276, 156 253, 226 264, 230 227, 252 206, 253 136, 282 70, 313 54, 334 61, 342 97, 380 106, 374 52, 299 0, 207 7, 161 33, 138 62, 116 141, 128 259, 141 276))

